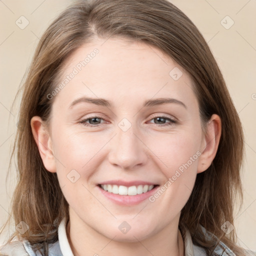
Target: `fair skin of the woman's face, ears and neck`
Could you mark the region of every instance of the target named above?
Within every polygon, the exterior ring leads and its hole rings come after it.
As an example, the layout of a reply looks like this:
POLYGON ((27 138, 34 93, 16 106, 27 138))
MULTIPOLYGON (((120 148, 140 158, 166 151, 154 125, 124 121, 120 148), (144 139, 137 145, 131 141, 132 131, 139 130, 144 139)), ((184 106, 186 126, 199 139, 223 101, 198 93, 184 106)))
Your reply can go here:
POLYGON ((63 77, 95 47, 99 53, 54 96, 49 127, 39 116, 31 118, 43 164, 57 173, 69 204, 70 247, 75 256, 183 255, 180 211, 196 174, 205 171, 216 154, 220 118, 213 114, 203 133, 189 75, 158 48, 142 42, 94 39, 65 61, 63 77), (178 80, 169 75, 174 67, 183 73, 178 80), (104 98, 112 106, 81 102, 69 108, 80 96, 104 98), (186 108, 177 103, 142 107, 144 100, 166 96, 186 108), (154 118, 162 114, 177 123, 157 122, 154 118), (92 121, 94 127, 79 123, 98 115, 103 119, 92 121), (126 131, 118 126, 122 118, 131 124, 126 131), (161 126, 166 123, 170 125, 161 126), (118 178, 161 187, 196 151, 200 156, 154 202, 118 205, 97 187, 118 178), (72 169, 80 174, 74 183, 67 178, 72 169), (123 221, 131 226, 125 234, 118 229, 123 221))

